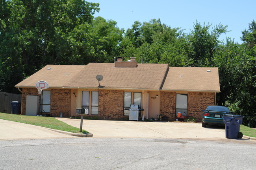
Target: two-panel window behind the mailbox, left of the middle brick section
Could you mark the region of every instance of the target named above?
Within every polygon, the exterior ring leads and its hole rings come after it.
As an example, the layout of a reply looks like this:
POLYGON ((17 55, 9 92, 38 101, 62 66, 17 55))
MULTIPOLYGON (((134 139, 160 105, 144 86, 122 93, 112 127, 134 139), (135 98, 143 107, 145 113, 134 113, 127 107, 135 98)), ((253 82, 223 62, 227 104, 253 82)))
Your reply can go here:
POLYGON ((82 108, 88 109, 91 115, 98 115, 98 95, 98 91, 82 91, 82 108))

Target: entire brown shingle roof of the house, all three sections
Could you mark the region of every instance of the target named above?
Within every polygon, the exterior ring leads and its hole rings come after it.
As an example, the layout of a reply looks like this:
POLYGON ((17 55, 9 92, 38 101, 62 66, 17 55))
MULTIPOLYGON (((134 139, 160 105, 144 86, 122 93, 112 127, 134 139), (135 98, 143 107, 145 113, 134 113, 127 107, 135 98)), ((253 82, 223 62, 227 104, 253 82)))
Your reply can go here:
MULTIPOLYGON (((105 89, 160 90, 168 68, 168 64, 138 64, 135 68, 116 68, 114 63, 47 65, 15 87, 35 87, 45 80, 50 88, 98 88, 96 75, 102 75, 100 85, 105 89)), ((218 68, 170 67, 161 90, 219 92, 218 68)))

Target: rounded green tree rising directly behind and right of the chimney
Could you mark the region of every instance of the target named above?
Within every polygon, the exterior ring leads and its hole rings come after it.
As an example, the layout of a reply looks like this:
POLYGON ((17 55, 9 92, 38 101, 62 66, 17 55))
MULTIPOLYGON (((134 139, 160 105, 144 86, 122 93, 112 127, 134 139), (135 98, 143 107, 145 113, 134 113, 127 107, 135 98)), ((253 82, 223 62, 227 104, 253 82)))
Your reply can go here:
POLYGON ((143 24, 135 21, 122 40, 121 55, 136 57, 138 61, 143 58, 145 63, 184 66, 187 62, 182 44, 186 43, 186 39, 182 31, 162 24, 160 19, 152 19, 143 24))

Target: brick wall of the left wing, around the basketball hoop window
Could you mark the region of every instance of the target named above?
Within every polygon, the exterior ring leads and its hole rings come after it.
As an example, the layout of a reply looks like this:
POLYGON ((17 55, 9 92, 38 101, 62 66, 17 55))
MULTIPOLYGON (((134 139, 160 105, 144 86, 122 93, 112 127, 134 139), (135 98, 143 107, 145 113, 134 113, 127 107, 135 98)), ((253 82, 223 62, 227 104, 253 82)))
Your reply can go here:
MULTIPOLYGON (((27 95, 39 96, 38 90, 36 88, 22 89, 22 108, 21 108, 22 115, 26 115, 27 95)), ((40 102, 39 102, 39 111, 40 111, 40 102)), ((70 89, 51 89, 50 116, 60 117, 60 112, 62 112, 63 117, 70 117, 70 89)))

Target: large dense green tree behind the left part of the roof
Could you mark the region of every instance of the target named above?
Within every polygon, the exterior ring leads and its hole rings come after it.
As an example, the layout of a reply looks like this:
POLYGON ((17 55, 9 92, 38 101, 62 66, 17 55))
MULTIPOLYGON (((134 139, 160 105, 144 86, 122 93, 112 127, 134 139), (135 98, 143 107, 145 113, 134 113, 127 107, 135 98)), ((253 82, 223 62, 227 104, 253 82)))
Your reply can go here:
MULTIPOLYGON (((98 3, 84 0, 0 1, 0 90, 17 92, 14 85, 46 64, 87 63, 92 51, 74 33, 90 31, 98 3)), ((88 34, 89 35, 89 34, 88 34)), ((87 41, 87 42, 86 42, 87 41)))

